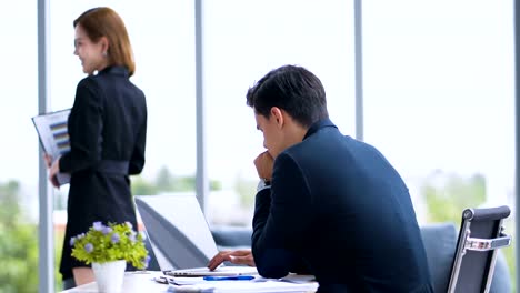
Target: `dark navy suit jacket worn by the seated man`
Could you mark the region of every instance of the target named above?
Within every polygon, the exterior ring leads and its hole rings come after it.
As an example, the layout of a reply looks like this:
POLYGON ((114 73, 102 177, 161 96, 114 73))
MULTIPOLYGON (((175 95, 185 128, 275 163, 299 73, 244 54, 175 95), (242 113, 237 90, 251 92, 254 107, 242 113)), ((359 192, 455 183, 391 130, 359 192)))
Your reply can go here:
POLYGON ((373 146, 322 120, 276 158, 271 183, 253 218, 261 275, 303 264, 319 292, 432 292, 408 189, 373 146))

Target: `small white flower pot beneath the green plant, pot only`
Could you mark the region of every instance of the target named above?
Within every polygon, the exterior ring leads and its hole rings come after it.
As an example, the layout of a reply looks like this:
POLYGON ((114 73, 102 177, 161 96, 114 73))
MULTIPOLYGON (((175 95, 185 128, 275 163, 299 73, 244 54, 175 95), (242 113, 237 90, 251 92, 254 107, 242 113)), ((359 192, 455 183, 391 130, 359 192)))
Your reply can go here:
POLYGON ((122 290, 127 261, 113 261, 106 263, 92 263, 99 292, 119 293, 122 290))

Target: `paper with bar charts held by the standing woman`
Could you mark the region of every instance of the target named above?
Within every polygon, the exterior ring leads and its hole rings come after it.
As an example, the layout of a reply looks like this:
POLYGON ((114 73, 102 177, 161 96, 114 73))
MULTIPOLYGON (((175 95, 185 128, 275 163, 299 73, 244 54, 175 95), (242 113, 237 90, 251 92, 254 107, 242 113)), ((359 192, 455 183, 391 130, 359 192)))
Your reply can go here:
MULTIPOLYGON (((67 121, 70 109, 41 114, 32 118, 43 151, 57 160, 63 153, 70 151, 69 132, 67 121)), ((70 174, 58 173, 58 183, 63 185, 70 182, 70 174)))

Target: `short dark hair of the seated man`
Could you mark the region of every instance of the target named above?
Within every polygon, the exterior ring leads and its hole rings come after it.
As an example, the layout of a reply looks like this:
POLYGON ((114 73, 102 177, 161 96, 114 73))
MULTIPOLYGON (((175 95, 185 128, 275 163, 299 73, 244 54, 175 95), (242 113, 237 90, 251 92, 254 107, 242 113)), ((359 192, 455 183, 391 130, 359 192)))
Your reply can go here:
POLYGON ((269 118, 271 108, 278 107, 307 128, 329 117, 321 81, 302 67, 271 70, 248 90, 246 98, 258 114, 269 118))

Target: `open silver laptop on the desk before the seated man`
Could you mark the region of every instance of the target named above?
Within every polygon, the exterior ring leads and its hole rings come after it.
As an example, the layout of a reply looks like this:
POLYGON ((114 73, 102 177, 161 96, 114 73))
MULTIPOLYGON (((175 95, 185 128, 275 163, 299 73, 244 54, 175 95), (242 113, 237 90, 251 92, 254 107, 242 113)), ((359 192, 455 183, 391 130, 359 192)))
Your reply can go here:
POLYGON ((219 252, 194 194, 134 196, 151 250, 164 274, 234 276, 258 274, 251 266, 206 267, 219 252))

